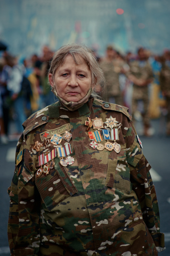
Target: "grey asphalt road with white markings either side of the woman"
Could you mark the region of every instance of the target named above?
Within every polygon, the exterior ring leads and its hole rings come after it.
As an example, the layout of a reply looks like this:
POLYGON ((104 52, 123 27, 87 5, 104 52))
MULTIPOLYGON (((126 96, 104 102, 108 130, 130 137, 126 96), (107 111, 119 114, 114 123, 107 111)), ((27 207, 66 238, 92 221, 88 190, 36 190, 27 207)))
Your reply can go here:
MULTIPOLYGON (((161 232, 165 234, 167 249, 159 253, 159 256, 170 256, 170 138, 165 136, 164 123, 160 123, 160 120, 152 121, 152 125, 155 128, 154 136, 140 136, 140 139, 145 157, 153 168, 151 175, 159 202, 161 232)), ((140 131, 140 128, 140 123, 137 123, 136 130, 140 131)), ((16 143, 11 141, 8 145, 0 144, 0 256, 10 255, 7 239, 9 196, 6 190, 14 172, 16 143)))

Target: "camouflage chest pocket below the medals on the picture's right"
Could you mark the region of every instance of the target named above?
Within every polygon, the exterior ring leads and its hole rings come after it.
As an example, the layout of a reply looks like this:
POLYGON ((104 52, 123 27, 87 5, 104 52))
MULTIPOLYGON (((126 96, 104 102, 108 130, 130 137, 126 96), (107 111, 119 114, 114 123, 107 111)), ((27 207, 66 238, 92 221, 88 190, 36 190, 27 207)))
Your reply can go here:
POLYGON ((117 154, 114 150, 108 155, 108 171, 105 186, 130 193, 130 168, 126 160, 126 149, 117 154))

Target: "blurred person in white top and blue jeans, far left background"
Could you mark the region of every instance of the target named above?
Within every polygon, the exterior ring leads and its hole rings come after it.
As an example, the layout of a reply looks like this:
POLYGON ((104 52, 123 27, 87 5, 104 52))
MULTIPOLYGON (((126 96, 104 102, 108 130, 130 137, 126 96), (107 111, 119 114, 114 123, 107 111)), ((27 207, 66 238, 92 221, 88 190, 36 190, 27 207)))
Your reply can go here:
POLYGON ((24 75, 24 67, 17 64, 17 59, 12 55, 4 57, 6 65, 4 69, 8 73, 6 81, 7 90, 9 90, 9 100, 13 107, 13 118, 15 121, 15 135, 22 134, 22 123, 26 120, 25 100, 22 94, 22 80, 24 75))

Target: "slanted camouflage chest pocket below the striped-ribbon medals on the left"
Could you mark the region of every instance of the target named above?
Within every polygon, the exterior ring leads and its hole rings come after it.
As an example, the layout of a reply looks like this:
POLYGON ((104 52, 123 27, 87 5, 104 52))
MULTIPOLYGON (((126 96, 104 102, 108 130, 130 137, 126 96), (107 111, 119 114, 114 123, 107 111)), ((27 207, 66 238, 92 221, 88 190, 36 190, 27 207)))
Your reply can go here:
POLYGON ((40 196, 49 211, 69 196, 78 192, 65 167, 60 165, 59 158, 56 157, 54 161, 55 167, 50 170, 47 176, 42 174, 35 179, 40 196))

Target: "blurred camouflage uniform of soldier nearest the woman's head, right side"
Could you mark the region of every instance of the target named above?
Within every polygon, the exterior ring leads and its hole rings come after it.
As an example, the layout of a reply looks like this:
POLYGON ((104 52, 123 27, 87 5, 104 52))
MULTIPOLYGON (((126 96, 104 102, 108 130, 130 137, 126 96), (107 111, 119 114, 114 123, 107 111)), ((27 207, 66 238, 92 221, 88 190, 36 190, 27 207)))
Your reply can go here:
POLYGON ((106 79, 106 90, 102 94, 102 98, 105 101, 109 101, 110 97, 114 97, 117 105, 123 104, 119 83, 119 74, 121 73, 121 68, 124 64, 124 61, 119 61, 117 59, 111 62, 106 60, 101 61, 100 67, 103 70, 106 79))

